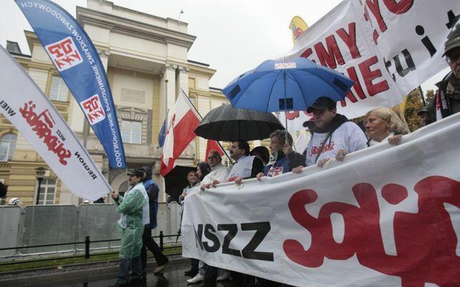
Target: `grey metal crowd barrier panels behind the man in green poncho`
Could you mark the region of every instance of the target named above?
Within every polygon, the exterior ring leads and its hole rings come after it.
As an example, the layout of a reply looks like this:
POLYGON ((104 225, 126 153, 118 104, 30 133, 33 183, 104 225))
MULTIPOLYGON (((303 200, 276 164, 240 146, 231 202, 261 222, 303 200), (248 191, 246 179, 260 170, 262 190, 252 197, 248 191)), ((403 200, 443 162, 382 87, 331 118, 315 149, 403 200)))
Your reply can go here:
MULTIPOLYGON (((112 204, 0 206, 0 258, 118 248, 119 216, 112 204)), ((160 202, 157 221, 153 237, 165 241, 160 243, 180 242, 176 202, 160 202), (168 235, 160 238, 161 231, 168 235)))

